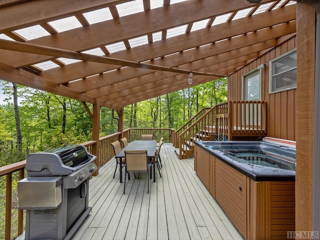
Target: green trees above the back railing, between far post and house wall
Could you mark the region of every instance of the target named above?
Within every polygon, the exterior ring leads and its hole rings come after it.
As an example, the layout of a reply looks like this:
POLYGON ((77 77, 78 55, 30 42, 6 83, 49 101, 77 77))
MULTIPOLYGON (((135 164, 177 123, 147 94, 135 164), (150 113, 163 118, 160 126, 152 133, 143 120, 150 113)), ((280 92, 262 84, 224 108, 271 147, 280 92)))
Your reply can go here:
MULTIPOLYGON (((180 127, 188 118, 193 116, 203 107, 212 107, 225 102, 227 96, 227 79, 220 78, 208 81, 190 88, 171 92, 169 96, 169 110, 173 118, 173 128, 180 127)), ((168 127, 168 108, 165 95, 160 96, 156 103, 156 97, 137 103, 136 122, 137 127, 152 127, 152 112, 155 107, 160 109, 155 127, 168 127)), ((124 107, 123 128, 130 127, 132 105, 124 107)))

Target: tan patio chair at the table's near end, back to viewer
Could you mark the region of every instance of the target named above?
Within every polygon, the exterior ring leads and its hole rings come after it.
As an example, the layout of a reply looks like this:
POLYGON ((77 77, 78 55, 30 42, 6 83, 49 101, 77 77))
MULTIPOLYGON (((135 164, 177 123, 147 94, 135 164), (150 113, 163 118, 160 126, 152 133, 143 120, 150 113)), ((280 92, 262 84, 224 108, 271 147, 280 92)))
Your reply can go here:
MULTIPOLYGON (((148 180, 148 193, 149 193, 149 164, 146 150, 127 150, 124 151, 125 155, 125 175, 123 194, 125 193, 125 178, 126 174, 134 173, 147 173, 148 180)), ((129 176, 129 175, 128 175, 129 176)))

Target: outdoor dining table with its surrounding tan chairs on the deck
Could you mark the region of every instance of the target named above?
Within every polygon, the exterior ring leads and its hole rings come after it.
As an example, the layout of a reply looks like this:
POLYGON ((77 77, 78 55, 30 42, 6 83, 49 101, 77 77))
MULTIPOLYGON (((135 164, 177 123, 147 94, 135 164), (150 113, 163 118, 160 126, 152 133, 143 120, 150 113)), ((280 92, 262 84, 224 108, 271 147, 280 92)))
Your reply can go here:
POLYGON ((122 168, 124 168, 123 194, 125 193, 126 176, 128 176, 129 180, 131 173, 134 174, 134 177, 139 173, 147 173, 148 193, 149 178, 151 179, 153 176, 153 182, 155 182, 155 167, 158 169, 160 177, 162 177, 160 172, 162 164, 159 154, 162 144, 163 137, 157 142, 153 139, 152 134, 142 134, 141 140, 134 140, 130 143, 128 143, 126 137, 121 138, 120 141, 111 142, 116 160, 113 178, 116 174, 117 165, 119 165, 119 181, 122 182, 122 168))

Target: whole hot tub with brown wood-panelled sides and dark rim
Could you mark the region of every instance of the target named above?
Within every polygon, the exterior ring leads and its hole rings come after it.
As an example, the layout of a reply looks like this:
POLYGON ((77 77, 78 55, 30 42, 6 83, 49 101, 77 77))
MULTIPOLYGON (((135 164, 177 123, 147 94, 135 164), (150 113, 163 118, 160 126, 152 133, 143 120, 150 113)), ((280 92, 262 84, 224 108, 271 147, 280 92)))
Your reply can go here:
POLYGON ((245 239, 294 231, 294 142, 196 141, 194 169, 245 239))

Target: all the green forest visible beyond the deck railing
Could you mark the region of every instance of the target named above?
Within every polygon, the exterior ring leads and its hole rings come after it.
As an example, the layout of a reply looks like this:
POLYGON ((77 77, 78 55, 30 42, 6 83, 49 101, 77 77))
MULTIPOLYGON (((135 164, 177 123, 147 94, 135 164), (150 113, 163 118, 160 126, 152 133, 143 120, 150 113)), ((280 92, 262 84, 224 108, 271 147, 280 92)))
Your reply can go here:
MULTIPOLYGON (((0 167, 27 154, 91 139, 91 119, 78 100, 0 80, 0 167)), ((220 78, 124 107, 123 129, 180 127, 203 107, 225 102, 227 80, 220 78)), ((90 109, 92 105, 87 104, 90 109)), ((114 111, 116 115, 116 111, 114 111)), ((100 136, 117 132, 112 109, 100 109, 100 136)), ((16 184, 16 183, 15 183, 16 184)), ((12 199, 16 199, 13 185, 12 199)), ((5 176, 0 177, 0 239, 4 234, 5 176)), ((16 208, 17 202, 12 202, 16 208)), ((12 212, 12 226, 14 214, 12 212)), ((14 229, 12 236, 16 234, 14 229)))

